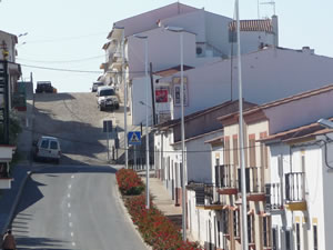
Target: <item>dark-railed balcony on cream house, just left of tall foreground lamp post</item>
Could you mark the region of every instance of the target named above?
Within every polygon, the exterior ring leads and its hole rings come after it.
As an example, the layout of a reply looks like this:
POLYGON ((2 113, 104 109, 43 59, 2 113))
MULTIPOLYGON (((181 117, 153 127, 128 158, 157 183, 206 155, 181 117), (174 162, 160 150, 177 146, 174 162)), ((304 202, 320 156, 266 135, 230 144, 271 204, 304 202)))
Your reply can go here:
POLYGON ((215 184, 220 194, 238 194, 235 173, 231 164, 215 166, 215 184))

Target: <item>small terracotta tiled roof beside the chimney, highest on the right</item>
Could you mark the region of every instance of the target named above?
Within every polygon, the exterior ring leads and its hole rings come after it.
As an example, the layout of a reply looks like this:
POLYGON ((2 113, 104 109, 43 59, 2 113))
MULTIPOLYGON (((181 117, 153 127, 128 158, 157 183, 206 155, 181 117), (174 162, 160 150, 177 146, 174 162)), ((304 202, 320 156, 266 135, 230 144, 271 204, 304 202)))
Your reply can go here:
MULTIPOLYGON (((230 30, 236 29, 236 21, 229 23, 230 30)), ((240 21, 241 31, 264 31, 273 32, 273 24, 271 19, 256 19, 256 20, 241 20, 240 21)))

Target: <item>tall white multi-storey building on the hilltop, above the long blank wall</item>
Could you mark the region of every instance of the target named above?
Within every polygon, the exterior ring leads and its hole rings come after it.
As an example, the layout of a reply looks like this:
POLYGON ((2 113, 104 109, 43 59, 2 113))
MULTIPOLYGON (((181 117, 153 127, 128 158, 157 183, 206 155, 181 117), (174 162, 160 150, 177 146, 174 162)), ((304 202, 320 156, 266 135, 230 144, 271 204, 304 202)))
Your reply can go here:
MULTIPOLYGON (((204 9, 175 2, 115 22, 108 36, 110 41, 103 46, 107 57, 105 63, 102 64, 105 71, 102 80, 108 84, 119 86, 122 97, 124 88, 121 84, 123 77, 121 71, 124 64, 124 74, 129 84, 128 101, 134 124, 144 120, 145 108, 140 102, 145 99, 141 98, 145 94, 143 86, 145 81, 142 79, 144 41, 133 34, 140 33, 148 37, 148 62, 152 63, 152 71, 168 70, 180 64, 180 33, 168 31, 167 27, 180 27, 184 30, 183 62, 186 66, 199 67, 213 63, 221 58, 226 59, 234 54, 232 50, 235 48, 234 22, 230 18, 208 12, 204 9), (122 39, 124 39, 124 61, 122 60, 122 39)), ((278 46, 278 18, 275 16, 266 20, 243 20, 241 31, 244 36, 242 53, 256 51, 263 46, 278 46)), ((152 92, 151 87, 149 91, 149 93, 152 92)), ((153 94, 155 94, 154 91, 153 94)), ((149 96, 150 107, 152 107, 151 96, 149 96)), ((169 96, 172 97, 172 94, 169 96)))

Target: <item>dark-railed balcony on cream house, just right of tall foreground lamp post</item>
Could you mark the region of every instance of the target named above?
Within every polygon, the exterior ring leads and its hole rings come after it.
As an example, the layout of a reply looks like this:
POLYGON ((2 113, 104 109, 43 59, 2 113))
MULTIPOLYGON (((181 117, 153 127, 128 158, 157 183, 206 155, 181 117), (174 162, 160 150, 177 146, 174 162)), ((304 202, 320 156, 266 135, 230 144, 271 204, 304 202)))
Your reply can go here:
MULTIPOLYGON (((263 173, 260 167, 245 168, 246 199, 249 201, 265 201, 263 173)), ((238 169, 239 192, 242 191, 241 169, 238 169)))

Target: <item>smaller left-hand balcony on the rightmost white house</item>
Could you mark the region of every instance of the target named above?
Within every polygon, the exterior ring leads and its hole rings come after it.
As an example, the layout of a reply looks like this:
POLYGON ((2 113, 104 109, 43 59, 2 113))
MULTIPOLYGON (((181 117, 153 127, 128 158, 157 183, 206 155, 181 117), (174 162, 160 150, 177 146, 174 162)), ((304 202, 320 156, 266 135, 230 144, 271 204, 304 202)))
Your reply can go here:
POLYGON ((266 212, 283 210, 281 188, 282 188, 281 183, 265 184, 265 190, 266 190, 265 210, 266 210, 266 212))

